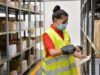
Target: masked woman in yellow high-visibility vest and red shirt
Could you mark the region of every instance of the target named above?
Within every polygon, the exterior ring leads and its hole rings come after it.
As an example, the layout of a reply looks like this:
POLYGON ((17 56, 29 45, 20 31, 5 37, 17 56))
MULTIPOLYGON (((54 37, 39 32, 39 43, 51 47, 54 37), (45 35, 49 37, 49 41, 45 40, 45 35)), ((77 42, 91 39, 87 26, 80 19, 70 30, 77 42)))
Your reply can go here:
POLYGON ((70 45, 70 37, 66 31, 68 14, 60 6, 55 6, 52 15, 53 24, 43 34, 42 75, 77 75, 74 56, 82 58, 76 50, 73 55, 63 55, 61 48, 70 45))

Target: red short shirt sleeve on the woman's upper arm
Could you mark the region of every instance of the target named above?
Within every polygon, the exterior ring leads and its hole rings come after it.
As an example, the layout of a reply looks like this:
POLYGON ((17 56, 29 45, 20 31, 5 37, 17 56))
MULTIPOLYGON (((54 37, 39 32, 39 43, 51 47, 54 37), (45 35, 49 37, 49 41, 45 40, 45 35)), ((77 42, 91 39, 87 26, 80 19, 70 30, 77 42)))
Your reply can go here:
POLYGON ((47 54, 49 54, 50 49, 55 49, 55 46, 47 33, 43 34, 43 44, 45 46, 47 54))

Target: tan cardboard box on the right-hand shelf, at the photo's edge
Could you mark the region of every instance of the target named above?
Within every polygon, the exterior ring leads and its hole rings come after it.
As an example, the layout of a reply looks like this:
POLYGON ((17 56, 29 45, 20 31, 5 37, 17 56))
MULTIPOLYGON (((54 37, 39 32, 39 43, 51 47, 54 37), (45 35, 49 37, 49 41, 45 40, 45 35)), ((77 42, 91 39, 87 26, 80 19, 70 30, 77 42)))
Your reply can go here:
POLYGON ((100 50, 100 20, 95 20, 94 45, 98 50, 100 50))

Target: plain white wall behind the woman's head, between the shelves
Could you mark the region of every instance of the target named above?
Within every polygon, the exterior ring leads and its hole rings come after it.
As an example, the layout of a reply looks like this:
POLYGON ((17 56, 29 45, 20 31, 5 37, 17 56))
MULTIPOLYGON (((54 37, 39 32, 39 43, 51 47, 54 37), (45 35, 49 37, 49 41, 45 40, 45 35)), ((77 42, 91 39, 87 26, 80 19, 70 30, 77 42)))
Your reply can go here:
POLYGON ((46 30, 52 24, 52 10, 60 5, 69 14, 67 30, 74 45, 80 44, 80 1, 55 1, 45 2, 45 25, 46 30))

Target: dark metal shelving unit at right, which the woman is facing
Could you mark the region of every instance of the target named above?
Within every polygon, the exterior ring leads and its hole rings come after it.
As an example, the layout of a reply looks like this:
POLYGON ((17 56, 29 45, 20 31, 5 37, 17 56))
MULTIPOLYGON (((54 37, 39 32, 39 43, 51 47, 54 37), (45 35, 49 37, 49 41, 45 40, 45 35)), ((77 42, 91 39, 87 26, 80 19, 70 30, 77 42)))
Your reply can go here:
MULTIPOLYGON (((95 20, 98 19, 96 13, 100 13, 96 5, 100 4, 99 0, 81 0, 81 45, 86 55, 91 55, 91 60, 84 63, 82 75, 96 75, 95 59, 99 50, 94 44, 94 26, 95 20)), ((100 19, 100 18, 99 18, 100 19)))

